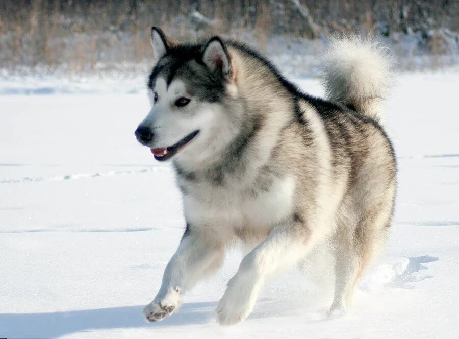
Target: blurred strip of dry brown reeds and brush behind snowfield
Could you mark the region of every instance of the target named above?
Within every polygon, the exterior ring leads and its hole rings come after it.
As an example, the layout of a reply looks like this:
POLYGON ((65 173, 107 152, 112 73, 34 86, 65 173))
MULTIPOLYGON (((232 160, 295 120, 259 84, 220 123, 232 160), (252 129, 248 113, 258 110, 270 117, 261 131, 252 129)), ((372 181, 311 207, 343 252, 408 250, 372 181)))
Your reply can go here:
POLYGON ((459 1, 417 0, 3 0, 0 69, 144 73, 150 27, 174 39, 244 40, 287 73, 315 75, 330 34, 374 32, 400 70, 457 64, 459 1))

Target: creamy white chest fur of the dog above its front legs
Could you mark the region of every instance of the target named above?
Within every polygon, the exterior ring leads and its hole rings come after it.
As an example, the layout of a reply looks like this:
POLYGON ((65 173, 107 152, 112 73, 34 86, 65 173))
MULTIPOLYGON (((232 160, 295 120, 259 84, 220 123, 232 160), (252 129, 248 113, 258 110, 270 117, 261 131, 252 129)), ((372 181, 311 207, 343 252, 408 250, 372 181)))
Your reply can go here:
POLYGON ((295 182, 284 178, 256 196, 222 188, 208 189, 206 199, 184 196, 187 222, 193 227, 231 228, 241 238, 266 236, 293 210, 295 182))

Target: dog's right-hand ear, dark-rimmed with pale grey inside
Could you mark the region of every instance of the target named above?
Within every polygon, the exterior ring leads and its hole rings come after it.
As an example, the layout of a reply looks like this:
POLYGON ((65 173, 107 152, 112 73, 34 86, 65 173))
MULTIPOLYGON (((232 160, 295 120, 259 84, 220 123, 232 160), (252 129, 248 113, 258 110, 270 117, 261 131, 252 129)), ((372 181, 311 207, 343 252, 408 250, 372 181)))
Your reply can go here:
POLYGON ((202 62, 211 72, 219 73, 223 78, 231 76, 231 58, 223 41, 215 36, 209 40, 202 51, 202 62))

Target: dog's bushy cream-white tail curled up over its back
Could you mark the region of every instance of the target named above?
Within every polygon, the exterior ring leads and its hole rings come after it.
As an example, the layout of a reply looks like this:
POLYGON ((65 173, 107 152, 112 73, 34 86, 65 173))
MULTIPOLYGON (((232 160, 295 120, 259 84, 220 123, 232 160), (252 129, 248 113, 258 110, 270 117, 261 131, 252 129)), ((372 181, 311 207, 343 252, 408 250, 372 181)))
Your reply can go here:
POLYGON ((327 98, 382 122, 391 68, 388 50, 373 39, 334 38, 322 60, 327 98))

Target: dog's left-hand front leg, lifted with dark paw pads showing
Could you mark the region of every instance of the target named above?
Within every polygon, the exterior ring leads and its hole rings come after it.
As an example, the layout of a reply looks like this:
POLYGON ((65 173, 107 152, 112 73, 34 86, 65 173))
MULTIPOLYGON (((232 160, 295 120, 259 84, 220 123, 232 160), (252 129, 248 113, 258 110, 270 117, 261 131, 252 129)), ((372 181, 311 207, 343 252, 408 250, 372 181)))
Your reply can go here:
POLYGON ((182 304, 183 294, 222 263, 224 241, 214 233, 188 228, 164 271, 161 288, 145 306, 148 321, 161 321, 182 304))

